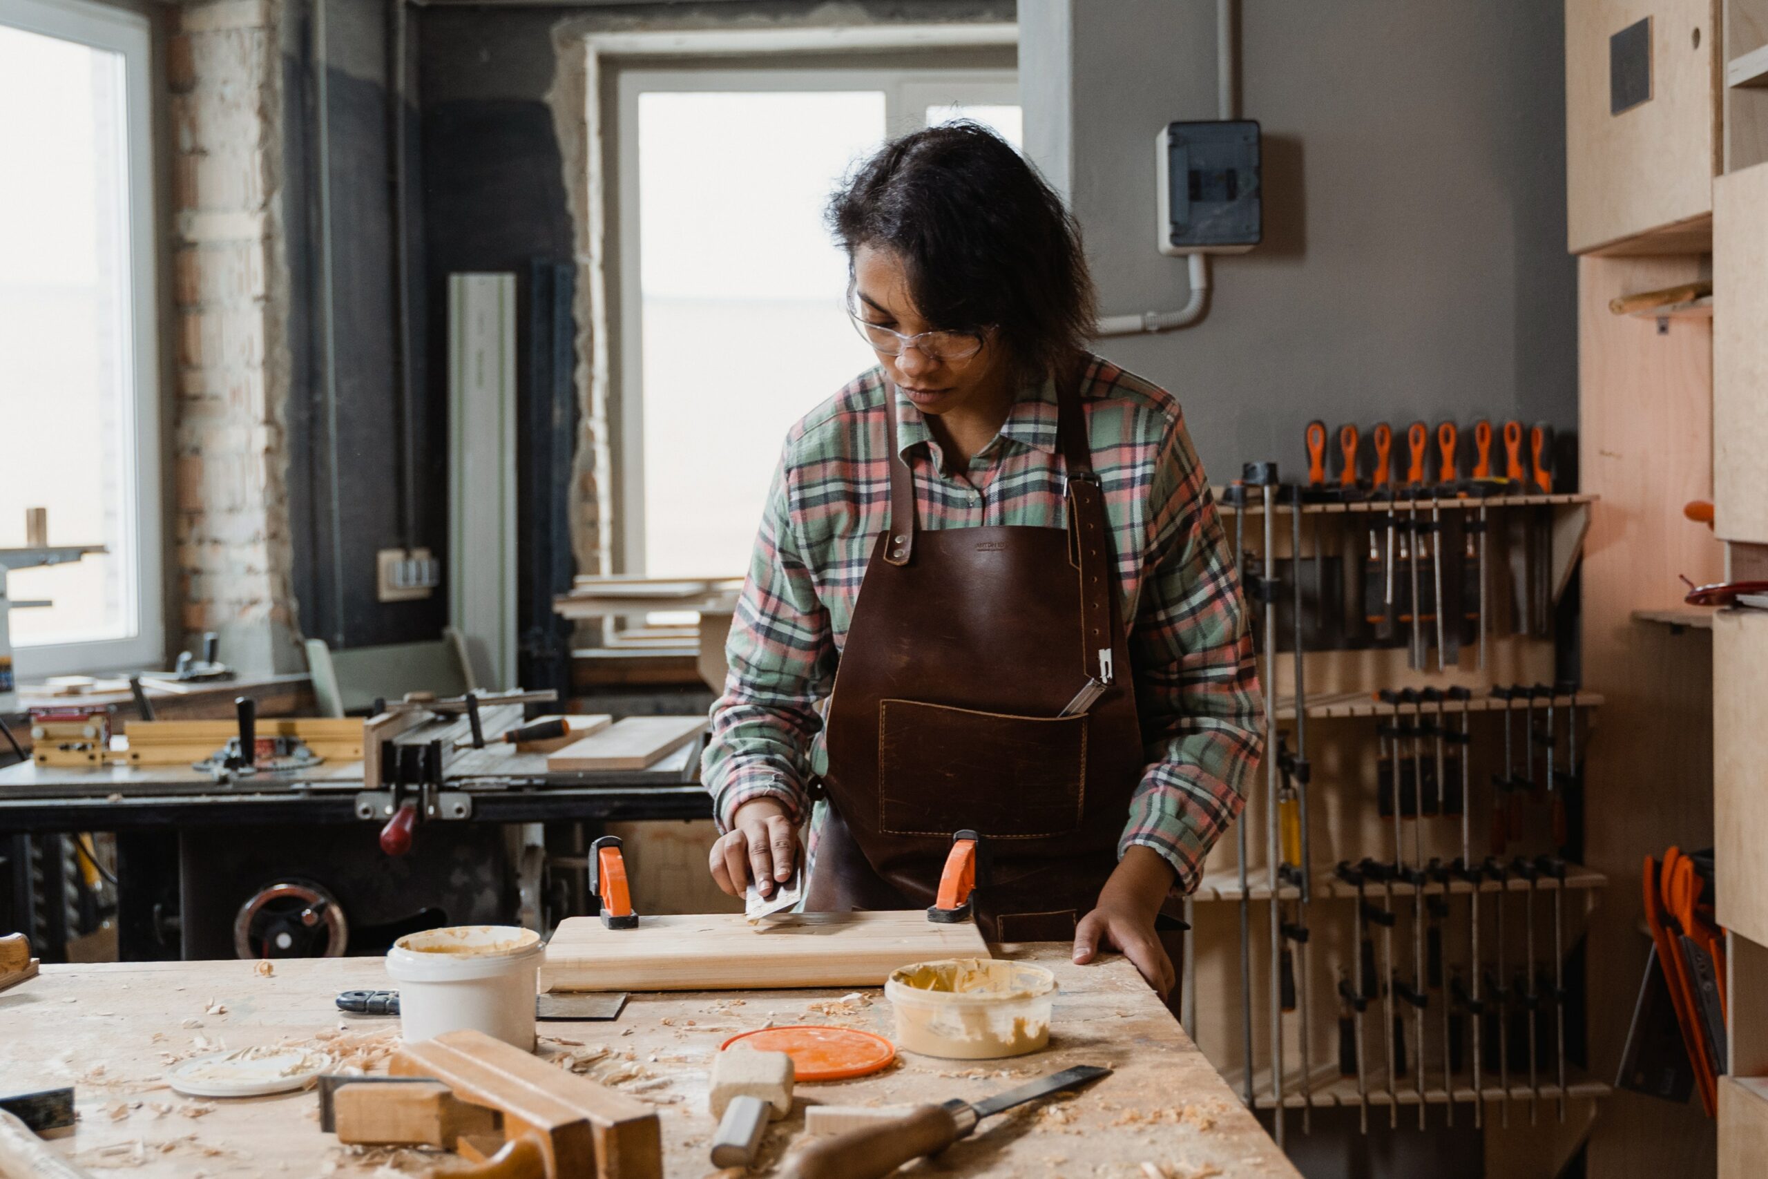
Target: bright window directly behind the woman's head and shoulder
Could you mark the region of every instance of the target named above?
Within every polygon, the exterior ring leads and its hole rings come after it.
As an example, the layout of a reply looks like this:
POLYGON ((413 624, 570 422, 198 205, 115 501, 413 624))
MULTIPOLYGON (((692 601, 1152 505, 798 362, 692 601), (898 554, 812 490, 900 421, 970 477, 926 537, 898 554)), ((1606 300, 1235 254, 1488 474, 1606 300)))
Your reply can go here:
POLYGON ((628 573, 739 576, 785 431, 877 362, 822 223, 888 134, 1020 143, 1011 71, 628 71, 619 83, 621 527, 628 573))

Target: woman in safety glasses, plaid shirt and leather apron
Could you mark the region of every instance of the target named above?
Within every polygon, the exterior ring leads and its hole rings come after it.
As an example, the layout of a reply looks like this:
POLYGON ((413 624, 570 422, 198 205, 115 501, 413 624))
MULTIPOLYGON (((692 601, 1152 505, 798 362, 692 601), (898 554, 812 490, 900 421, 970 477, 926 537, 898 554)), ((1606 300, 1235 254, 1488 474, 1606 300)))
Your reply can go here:
POLYGON ((1116 947, 1165 995, 1155 917, 1261 753, 1179 407, 1086 352, 1078 230, 987 129, 886 145, 829 224, 879 366, 787 437, 713 707, 713 877, 769 896, 817 795, 806 907, 919 909, 971 827, 990 939, 1116 947))

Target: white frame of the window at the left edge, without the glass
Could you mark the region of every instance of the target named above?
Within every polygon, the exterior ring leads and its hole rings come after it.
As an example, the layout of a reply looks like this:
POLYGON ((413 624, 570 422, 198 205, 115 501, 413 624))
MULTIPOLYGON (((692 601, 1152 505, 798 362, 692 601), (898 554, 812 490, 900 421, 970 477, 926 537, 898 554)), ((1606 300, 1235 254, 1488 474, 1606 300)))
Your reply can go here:
MULTIPOLYGON (((154 226, 154 88, 152 23, 145 14, 90 0, 0 0, 0 25, 122 58, 122 127, 127 214, 129 288, 120 300, 122 338, 131 355, 124 369, 133 389, 120 422, 126 468, 118 486, 133 497, 124 518, 134 532, 134 560, 122 569, 133 578, 134 633, 124 638, 27 645, 12 638, 19 681, 74 672, 110 672, 157 666, 166 658, 164 550, 161 497, 161 369, 159 369, 159 240, 154 226), (129 440, 133 438, 133 445, 129 440), (133 511, 129 511, 133 507, 133 511)), ((53 521, 51 521, 53 523, 53 521)))

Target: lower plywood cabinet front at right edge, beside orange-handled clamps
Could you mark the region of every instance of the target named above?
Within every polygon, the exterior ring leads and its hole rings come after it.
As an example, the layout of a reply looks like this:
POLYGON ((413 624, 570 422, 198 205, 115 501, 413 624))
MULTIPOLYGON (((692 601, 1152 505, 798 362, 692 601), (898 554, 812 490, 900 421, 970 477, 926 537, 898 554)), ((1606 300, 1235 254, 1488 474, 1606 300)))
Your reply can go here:
MULTIPOLYGON (((1768 610, 1713 615, 1713 854, 1718 924, 1768 944, 1768 610)), ((1759 979, 1750 979, 1759 986, 1759 979)))

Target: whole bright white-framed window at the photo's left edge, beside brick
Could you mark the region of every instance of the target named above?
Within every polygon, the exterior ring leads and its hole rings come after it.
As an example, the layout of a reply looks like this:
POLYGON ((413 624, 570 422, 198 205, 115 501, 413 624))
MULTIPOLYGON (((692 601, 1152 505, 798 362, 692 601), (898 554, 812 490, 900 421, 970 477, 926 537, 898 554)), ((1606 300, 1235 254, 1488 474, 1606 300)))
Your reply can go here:
POLYGON ((104 546, 9 574, 21 675, 164 658, 149 143, 145 18, 0 0, 0 548, 104 546))

